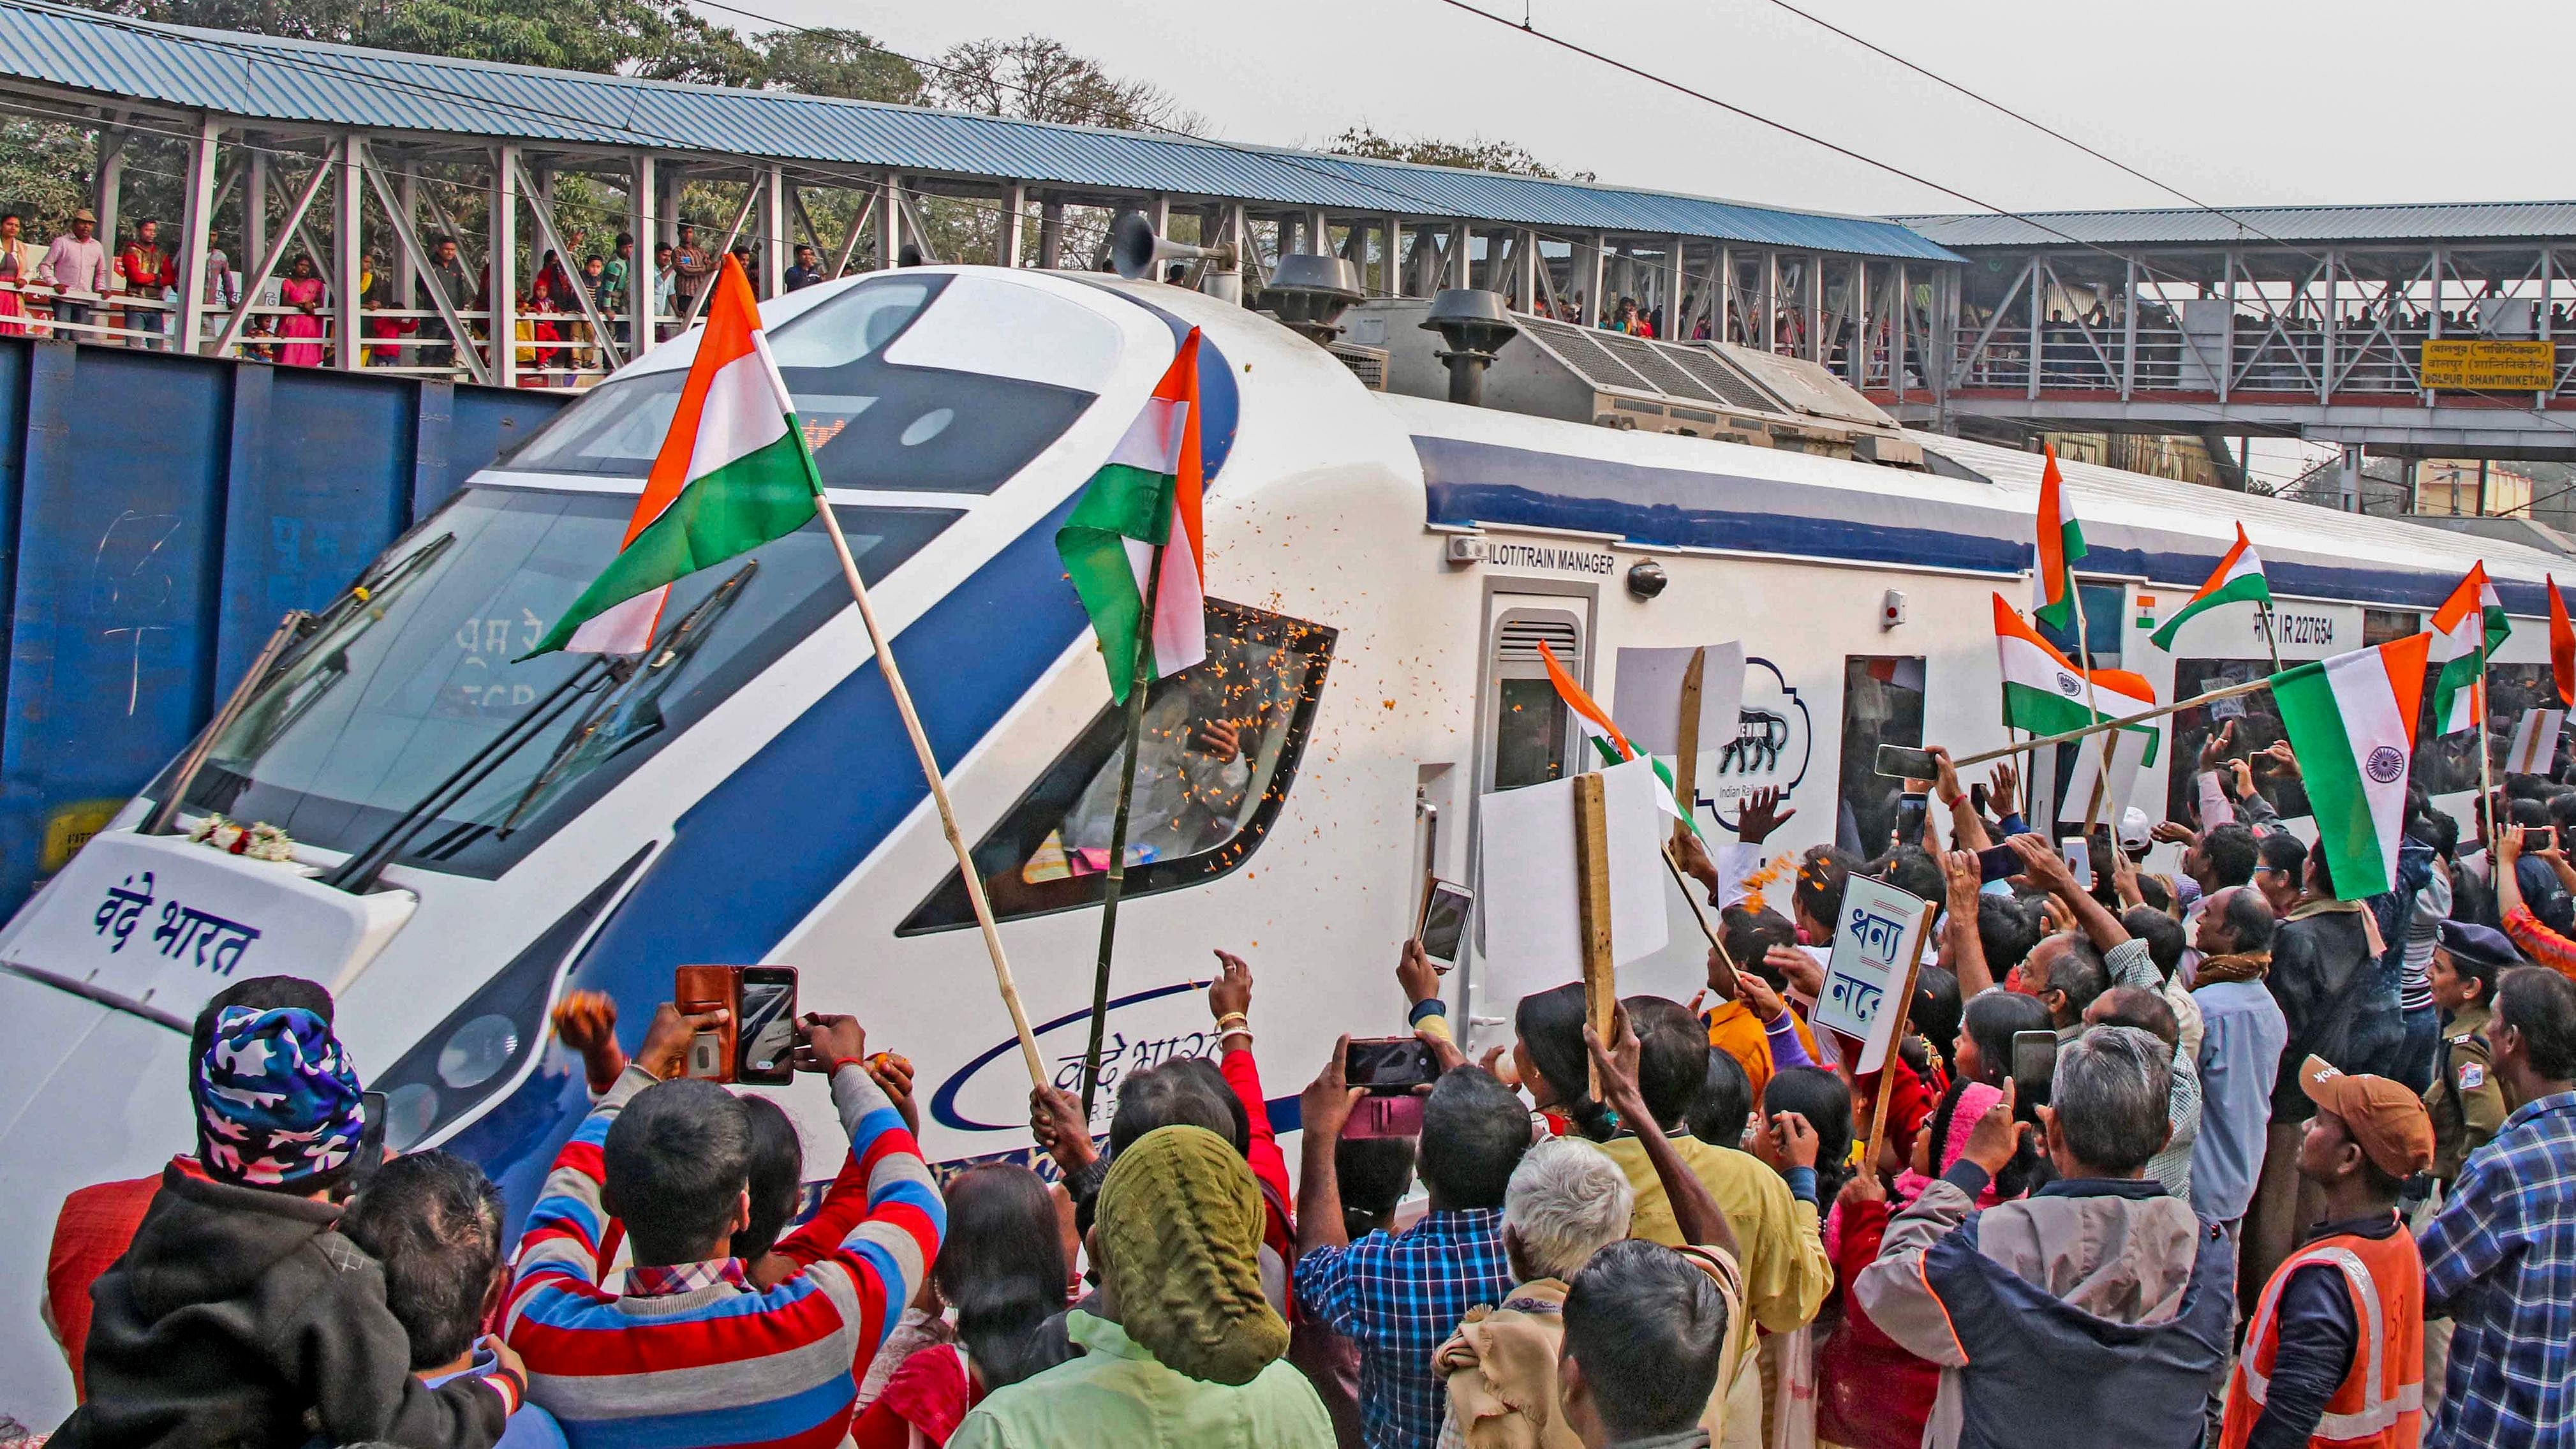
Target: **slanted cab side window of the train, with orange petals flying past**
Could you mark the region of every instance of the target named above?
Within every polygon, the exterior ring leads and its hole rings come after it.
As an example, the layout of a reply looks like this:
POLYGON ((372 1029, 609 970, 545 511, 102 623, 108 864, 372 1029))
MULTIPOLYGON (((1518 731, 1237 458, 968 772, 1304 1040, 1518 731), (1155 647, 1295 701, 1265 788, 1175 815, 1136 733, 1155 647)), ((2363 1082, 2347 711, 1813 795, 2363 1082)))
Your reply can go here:
MULTIPOLYGON (((1288 799, 1324 691, 1334 629, 1208 601, 1208 657, 1154 681, 1128 807, 1123 895, 1157 895, 1244 864, 1288 799)), ((997 918, 1100 900, 1110 866, 1126 709, 1108 704, 974 848, 997 918)), ((951 874, 896 936, 974 926, 951 874)))

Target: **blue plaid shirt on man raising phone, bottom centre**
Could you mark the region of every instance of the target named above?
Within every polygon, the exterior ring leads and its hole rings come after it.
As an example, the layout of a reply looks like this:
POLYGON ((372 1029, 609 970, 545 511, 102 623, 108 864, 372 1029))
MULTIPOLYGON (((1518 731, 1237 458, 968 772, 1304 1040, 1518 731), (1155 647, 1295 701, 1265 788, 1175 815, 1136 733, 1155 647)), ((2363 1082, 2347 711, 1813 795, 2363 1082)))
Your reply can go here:
POLYGON ((1360 1346, 1360 1439, 1368 1449, 1432 1449, 1445 1392, 1432 1351, 1466 1310, 1502 1302, 1502 1209, 1430 1212, 1401 1235, 1296 1261, 1296 1302, 1360 1346))

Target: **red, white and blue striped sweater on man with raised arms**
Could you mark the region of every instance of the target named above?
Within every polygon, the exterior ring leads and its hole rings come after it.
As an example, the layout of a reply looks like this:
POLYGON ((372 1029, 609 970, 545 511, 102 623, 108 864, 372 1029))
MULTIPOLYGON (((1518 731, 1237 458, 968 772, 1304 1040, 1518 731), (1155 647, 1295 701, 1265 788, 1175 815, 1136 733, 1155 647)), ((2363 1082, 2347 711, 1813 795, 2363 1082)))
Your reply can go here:
POLYGON ((842 1067, 832 1101, 850 1160, 819 1212, 848 1222, 837 1248, 770 1292, 750 1289, 734 1263, 693 1263, 654 1271, 665 1292, 616 1294, 600 1287, 600 1145, 652 1083, 636 1067, 618 1078, 528 1214, 502 1330, 528 1364, 528 1400, 562 1421, 572 1449, 840 1444, 853 1366, 912 1302, 948 1222, 912 1132, 868 1073, 842 1067))

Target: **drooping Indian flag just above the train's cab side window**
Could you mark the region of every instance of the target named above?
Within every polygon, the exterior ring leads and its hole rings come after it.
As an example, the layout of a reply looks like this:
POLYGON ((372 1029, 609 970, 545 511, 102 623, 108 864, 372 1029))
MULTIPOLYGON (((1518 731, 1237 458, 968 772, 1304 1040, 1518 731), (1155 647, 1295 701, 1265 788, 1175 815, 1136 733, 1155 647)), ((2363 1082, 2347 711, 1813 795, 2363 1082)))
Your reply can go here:
POLYGON ((1144 647, 1144 678, 1175 676, 1208 657, 1206 526, 1198 464, 1198 327, 1128 423, 1110 462, 1056 529, 1056 557, 1082 596, 1110 668, 1110 699, 1123 701, 1144 647), (1162 552, 1162 585, 1154 557, 1162 552), (1146 596, 1154 619, 1146 624, 1146 596))

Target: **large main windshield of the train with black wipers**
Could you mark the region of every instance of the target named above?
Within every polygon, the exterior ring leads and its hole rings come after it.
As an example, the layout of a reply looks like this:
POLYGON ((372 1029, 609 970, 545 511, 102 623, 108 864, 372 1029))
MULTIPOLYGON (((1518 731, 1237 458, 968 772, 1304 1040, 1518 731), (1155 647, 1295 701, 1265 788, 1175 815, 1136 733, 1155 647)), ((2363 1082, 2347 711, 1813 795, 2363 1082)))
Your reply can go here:
MULTIPOLYGON (((430 807, 397 861, 500 874, 850 603, 817 521, 675 583, 644 655, 520 660, 616 554, 629 513, 613 492, 464 490, 281 660, 185 810, 358 851, 430 807)), ((868 583, 951 521, 840 508, 868 583)))

